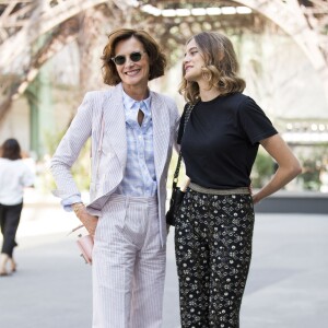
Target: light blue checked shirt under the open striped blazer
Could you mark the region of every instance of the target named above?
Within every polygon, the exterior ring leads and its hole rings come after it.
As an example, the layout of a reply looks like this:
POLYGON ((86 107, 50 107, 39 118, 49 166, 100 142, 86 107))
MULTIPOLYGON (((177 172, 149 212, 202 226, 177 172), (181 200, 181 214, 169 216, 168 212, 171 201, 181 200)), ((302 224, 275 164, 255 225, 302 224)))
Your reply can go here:
POLYGON ((154 164, 153 121, 151 97, 137 102, 122 92, 127 132, 127 166, 121 184, 116 192, 134 197, 156 195, 154 164), (142 125, 138 124, 138 112, 142 109, 142 125))

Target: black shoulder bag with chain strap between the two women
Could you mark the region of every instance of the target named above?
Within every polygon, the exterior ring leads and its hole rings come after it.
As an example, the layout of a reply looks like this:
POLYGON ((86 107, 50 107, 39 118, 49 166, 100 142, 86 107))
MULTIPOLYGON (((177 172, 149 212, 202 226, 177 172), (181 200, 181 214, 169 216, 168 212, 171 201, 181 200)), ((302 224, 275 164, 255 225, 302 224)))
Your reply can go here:
MULTIPOLYGON (((186 115, 185 115, 185 121, 184 121, 184 130, 183 132, 185 132, 187 122, 189 120, 191 110, 194 108, 195 105, 188 105, 188 107, 186 108, 186 115)), ((183 136, 180 136, 183 137, 183 136)), ((169 209, 165 215, 166 218, 166 223, 169 225, 175 225, 175 218, 177 215, 177 212, 183 203, 184 200, 184 196, 185 192, 181 191, 181 189, 177 186, 178 183, 178 176, 179 176, 179 171, 180 171, 180 165, 181 165, 181 159, 183 159, 183 154, 181 151, 179 151, 179 156, 178 156, 178 161, 176 164, 176 168, 175 168, 175 173, 173 176, 173 184, 172 184, 172 196, 171 196, 171 200, 169 200, 169 209)))

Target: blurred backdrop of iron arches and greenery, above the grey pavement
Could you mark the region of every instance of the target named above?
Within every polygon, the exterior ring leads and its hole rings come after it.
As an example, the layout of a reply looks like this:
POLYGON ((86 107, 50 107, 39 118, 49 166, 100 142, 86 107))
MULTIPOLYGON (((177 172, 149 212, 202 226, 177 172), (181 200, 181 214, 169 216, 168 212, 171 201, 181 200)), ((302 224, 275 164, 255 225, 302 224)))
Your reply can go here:
MULTIPOLYGON (((1 0, 0 141, 16 138, 36 164, 38 187, 52 188, 45 169, 86 91, 106 89, 101 56, 119 26, 149 31, 168 57, 155 91, 174 97, 186 40, 200 31, 227 34, 246 79, 246 94, 263 108, 302 161, 292 190, 328 191, 328 3, 325 0, 1 0)), ((83 156, 87 156, 86 150, 83 156)), ((89 161, 74 174, 87 189, 89 161)), ((260 152, 254 187, 274 163, 260 152)))

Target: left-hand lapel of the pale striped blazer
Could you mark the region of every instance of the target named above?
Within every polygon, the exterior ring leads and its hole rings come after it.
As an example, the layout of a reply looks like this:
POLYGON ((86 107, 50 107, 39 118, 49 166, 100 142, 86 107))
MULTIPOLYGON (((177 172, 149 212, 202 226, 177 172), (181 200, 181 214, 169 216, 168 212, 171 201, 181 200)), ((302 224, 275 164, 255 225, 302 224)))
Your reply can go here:
POLYGON ((127 163, 126 117, 122 104, 121 84, 115 86, 104 102, 104 140, 114 149, 119 163, 125 169, 127 163))

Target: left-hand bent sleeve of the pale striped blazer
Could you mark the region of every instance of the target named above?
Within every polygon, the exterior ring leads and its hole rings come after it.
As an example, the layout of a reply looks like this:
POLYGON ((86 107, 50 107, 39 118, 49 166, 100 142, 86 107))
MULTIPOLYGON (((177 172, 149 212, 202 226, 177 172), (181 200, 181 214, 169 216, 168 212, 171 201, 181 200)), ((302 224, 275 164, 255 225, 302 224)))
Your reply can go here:
POLYGON ((50 162, 50 171, 57 189, 52 194, 62 200, 80 195, 71 174, 71 167, 92 132, 93 99, 86 93, 78 113, 61 139, 50 162))

